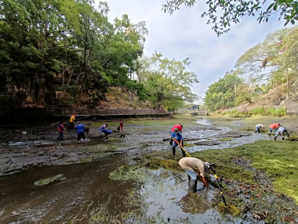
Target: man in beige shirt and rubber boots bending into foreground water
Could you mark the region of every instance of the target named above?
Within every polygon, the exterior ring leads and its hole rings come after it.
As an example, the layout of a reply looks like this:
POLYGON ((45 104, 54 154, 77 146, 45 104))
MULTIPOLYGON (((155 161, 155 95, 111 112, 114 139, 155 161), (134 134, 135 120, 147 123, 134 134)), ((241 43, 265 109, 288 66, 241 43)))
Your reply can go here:
POLYGON ((184 157, 179 160, 179 165, 187 173, 188 181, 190 182, 191 192, 195 192, 197 190, 198 174, 200 176, 201 181, 209 189, 208 180, 206 177, 206 171, 210 168, 208 162, 203 162, 201 159, 193 157, 184 157))

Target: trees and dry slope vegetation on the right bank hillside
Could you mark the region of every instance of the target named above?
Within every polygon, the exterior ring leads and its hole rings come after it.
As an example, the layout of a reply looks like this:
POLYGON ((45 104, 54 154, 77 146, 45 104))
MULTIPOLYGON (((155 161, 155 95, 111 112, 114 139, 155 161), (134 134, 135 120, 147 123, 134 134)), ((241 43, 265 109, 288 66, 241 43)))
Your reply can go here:
POLYGON ((297 65, 298 27, 270 33, 239 57, 236 70, 209 86, 204 107, 209 111, 237 107, 252 113, 263 106, 298 102, 297 65))

